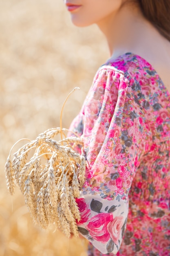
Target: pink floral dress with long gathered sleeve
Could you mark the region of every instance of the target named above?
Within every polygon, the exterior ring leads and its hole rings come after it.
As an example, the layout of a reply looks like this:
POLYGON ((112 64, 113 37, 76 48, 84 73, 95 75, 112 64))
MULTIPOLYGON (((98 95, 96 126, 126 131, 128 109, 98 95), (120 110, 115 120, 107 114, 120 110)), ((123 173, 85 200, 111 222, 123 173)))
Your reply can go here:
POLYGON ((170 256, 170 93, 154 68, 132 53, 105 63, 71 130, 87 160, 88 255, 170 256))

